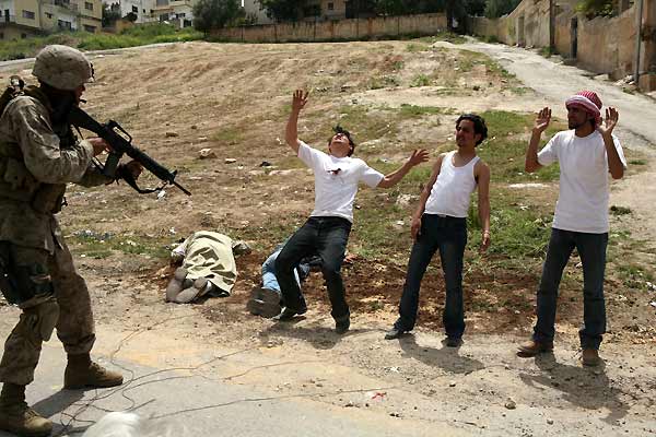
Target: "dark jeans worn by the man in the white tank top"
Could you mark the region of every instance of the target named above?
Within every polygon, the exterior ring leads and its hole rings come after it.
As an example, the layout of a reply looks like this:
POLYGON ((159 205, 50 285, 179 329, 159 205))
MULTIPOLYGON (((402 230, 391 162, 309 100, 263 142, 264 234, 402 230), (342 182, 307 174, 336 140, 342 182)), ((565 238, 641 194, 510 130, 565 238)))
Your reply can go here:
POLYGON ((435 251, 440 250, 446 287, 443 322, 446 335, 459 339, 465 332, 462 305, 462 257, 467 246, 467 220, 423 214, 421 232, 412 246, 399 319, 394 324, 400 331, 411 331, 419 309, 419 288, 435 251))

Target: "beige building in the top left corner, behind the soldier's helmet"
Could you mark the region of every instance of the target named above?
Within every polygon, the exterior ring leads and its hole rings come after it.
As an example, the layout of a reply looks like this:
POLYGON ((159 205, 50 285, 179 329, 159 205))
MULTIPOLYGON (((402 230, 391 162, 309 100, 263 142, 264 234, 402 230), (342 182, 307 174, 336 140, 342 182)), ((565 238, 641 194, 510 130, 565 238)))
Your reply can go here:
POLYGON ((59 31, 101 31, 102 0, 0 0, 0 40, 59 31))

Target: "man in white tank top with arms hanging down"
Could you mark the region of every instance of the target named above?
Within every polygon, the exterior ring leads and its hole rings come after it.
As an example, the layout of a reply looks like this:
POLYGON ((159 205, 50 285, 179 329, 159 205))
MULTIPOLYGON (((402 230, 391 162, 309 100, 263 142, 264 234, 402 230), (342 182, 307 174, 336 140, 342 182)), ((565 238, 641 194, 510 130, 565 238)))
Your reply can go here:
POLYGON ((481 117, 475 114, 460 116, 456 121, 458 150, 441 154, 433 166, 431 179, 412 217, 414 245, 399 304, 399 318, 385 334, 387 340, 397 339, 414 328, 421 280, 438 250, 446 294, 443 314, 446 345, 457 347, 461 344, 465 332, 462 258, 470 194, 477 187, 481 249, 490 246, 490 167, 476 154, 476 147, 487 137, 488 128, 481 117))

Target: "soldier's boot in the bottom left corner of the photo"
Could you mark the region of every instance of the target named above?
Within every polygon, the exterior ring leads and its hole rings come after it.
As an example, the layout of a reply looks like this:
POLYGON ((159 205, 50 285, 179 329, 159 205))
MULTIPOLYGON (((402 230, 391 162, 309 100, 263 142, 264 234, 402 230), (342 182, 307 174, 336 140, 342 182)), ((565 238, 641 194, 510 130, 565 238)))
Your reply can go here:
POLYGON ((4 382, 0 394, 0 429, 26 437, 45 437, 52 423, 38 415, 25 402, 25 386, 4 382))

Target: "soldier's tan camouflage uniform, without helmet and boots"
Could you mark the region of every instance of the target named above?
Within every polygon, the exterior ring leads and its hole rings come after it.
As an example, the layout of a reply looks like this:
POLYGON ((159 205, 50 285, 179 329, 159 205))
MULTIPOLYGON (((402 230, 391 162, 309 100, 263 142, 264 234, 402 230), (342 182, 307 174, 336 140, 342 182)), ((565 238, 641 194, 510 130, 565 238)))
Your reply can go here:
POLYGON ((54 291, 54 296, 44 293, 20 305, 20 321, 4 345, 0 381, 20 386, 34 380, 42 342, 49 339, 51 328, 44 332, 43 319, 57 320, 67 353, 84 354, 93 346, 89 290, 73 267, 55 214, 67 182, 108 182, 92 164, 91 143, 77 141, 69 126, 54 127, 48 98, 39 93, 33 88, 32 96, 14 98, 0 117, 0 241, 11 245, 16 265, 37 267, 35 283, 51 284, 54 291))

